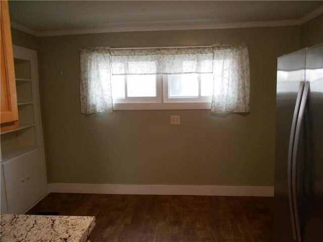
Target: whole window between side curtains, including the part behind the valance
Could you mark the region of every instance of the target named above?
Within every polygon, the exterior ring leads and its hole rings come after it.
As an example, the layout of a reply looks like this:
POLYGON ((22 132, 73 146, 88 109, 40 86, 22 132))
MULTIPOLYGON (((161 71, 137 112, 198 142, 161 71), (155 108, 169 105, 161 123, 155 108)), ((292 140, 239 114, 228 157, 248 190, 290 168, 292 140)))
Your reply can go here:
POLYGON ((111 51, 114 109, 210 107, 212 48, 111 51))

